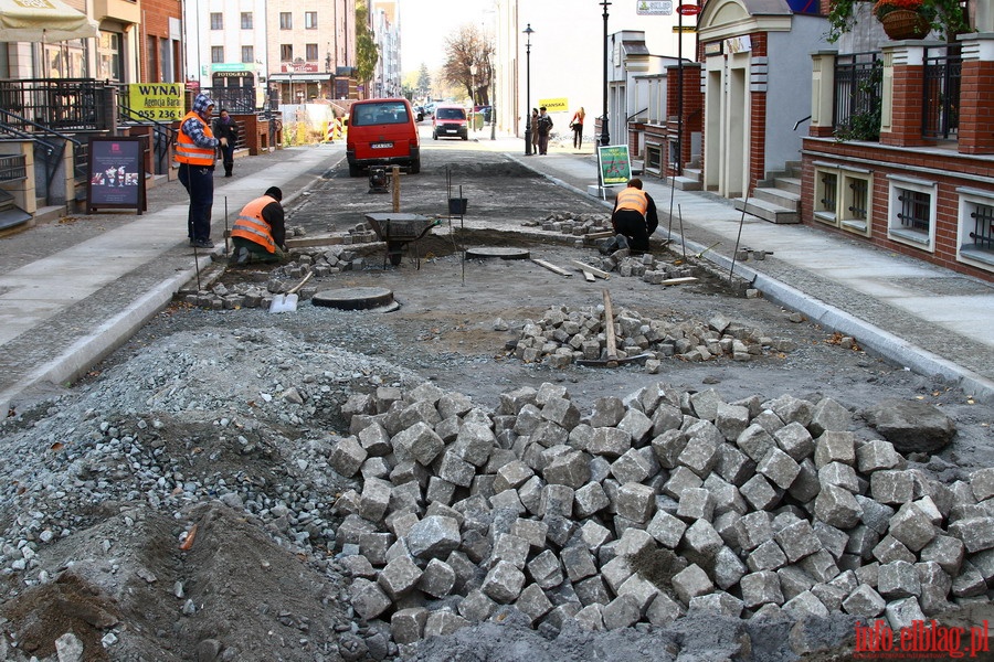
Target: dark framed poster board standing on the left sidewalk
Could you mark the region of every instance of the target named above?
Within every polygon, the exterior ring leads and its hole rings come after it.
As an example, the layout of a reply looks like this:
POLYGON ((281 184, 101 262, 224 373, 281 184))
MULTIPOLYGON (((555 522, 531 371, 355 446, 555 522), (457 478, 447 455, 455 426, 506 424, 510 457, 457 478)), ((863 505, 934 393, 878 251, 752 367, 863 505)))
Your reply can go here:
POLYGON ((147 137, 89 139, 86 174, 86 213, 98 209, 148 210, 145 189, 147 137))

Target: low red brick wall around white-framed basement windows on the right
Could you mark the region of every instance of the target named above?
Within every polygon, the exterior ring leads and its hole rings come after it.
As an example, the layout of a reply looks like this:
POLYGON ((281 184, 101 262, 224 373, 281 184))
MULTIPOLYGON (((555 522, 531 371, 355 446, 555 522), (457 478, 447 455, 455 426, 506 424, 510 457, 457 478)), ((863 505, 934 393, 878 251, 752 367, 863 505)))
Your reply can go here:
POLYGON ((854 233, 832 228, 814 220, 814 162, 838 163, 839 166, 850 164, 861 169, 866 168, 867 161, 876 162, 873 167, 874 189, 869 193, 869 197, 873 201, 873 226, 870 237, 865 238, 865 241, 888 250, 935 264, 960 274, 967 274, 983 280, 994 281, 994 273, 956 261, 960 226, 960 201, 956 188, 975 186, 979 178, 990 177, 992 169, 990 159, 962 158, 952 150, 948 153, 930 151, 928 154, 922 154, 918 150, 893 149, 892 147, 868 145, 866 142, 836 142, 834 140, 817 139, 805 139, 802 154, 801 220, 803 223, 826 232, 843 233, 849 238, 861 238, 854 233), (923 174, 917 170, 909 170, 909 168, 920 169, 926 163, 932 172, 923 174), (905 174, 938 183, 935 249, 933 253, 888 238, 889 174, 905 174))

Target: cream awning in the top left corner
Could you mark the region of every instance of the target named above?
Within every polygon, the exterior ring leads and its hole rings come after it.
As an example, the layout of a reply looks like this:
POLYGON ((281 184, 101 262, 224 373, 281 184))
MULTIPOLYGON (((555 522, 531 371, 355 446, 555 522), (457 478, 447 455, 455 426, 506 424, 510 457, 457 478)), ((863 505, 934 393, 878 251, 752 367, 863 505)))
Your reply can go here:
POLYGON ((0 42, 97 36, 99 25, 61 0, 0 0, 0 42))

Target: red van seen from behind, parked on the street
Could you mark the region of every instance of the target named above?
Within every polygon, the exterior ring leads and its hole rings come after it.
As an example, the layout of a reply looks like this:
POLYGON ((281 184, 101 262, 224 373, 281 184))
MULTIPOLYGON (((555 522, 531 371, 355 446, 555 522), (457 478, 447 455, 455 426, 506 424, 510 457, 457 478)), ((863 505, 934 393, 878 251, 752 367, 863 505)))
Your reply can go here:
POLYGON ((401 166, 421 172, 421 140, 408 99, 366 99, 349 109, 346 139, 349 177, 370 166, 401 166))

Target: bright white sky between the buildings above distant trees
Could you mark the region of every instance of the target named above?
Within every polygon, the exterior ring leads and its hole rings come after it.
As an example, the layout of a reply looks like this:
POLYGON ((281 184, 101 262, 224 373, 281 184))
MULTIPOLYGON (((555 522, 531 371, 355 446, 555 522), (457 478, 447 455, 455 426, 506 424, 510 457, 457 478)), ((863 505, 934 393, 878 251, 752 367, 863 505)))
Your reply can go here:
POLYGON ((466 23, 493 24, 494 0, 400 0, 401 71, 445 61, 445 40, 466 23))

